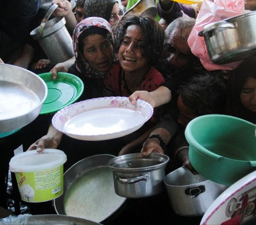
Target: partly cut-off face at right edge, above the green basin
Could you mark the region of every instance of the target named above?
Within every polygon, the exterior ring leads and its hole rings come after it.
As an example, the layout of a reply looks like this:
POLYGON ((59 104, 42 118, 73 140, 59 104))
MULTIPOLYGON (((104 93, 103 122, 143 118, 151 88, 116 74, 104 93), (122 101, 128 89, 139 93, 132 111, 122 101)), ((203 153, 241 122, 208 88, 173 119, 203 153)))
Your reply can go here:
POLYGON ((240 99, 246 109, 256 113, 256 79, 246 79, 240 94, 240 99))

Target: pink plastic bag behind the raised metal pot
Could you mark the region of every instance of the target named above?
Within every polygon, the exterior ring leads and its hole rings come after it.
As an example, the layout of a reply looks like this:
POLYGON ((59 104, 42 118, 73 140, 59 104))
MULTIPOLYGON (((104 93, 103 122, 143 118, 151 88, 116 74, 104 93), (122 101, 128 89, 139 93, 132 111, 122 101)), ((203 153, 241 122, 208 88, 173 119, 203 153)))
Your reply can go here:
POLYGON ((244 10, 244 0, 204 0, 196 18, 196 23, 188 37, 188 45, 191 52, 199 57, 206 70, 234 70, 242 61, 218 65, 214 64, 207 52, 204 37, 198 36, 204 26, 225 20, 227 18, 241 15, 244 10))

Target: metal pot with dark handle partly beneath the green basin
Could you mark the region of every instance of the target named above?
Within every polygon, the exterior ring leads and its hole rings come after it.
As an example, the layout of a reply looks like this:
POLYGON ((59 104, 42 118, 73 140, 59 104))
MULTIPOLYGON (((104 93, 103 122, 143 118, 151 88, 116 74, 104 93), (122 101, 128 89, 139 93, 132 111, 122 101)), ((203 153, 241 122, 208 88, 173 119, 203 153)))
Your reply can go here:
POLYGON ((181 216, 202 216, 214 200, 228 188, 194 175, 185 166, 164 178, 173 211, 181 216))

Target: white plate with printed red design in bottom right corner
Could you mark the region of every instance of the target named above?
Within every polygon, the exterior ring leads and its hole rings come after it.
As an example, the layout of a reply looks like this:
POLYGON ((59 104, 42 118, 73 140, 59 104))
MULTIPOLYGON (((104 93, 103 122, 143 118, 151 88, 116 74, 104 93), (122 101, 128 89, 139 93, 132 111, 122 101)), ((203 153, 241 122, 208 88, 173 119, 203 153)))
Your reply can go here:
POLYGON ((256 171, 235 182, 210 205, 201 225, 256 224, 256 171))

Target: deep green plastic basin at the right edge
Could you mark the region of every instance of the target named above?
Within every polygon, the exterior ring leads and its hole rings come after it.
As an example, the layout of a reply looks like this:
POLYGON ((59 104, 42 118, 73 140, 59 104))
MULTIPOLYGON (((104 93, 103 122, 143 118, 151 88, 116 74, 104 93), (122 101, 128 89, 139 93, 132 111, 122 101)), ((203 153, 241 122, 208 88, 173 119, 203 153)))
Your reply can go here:
POLYGON ((185 130, 191 164, 203 177, 233 185, 256 169, 255 129, 255 124, 228 115, 191 120, 185 130))

